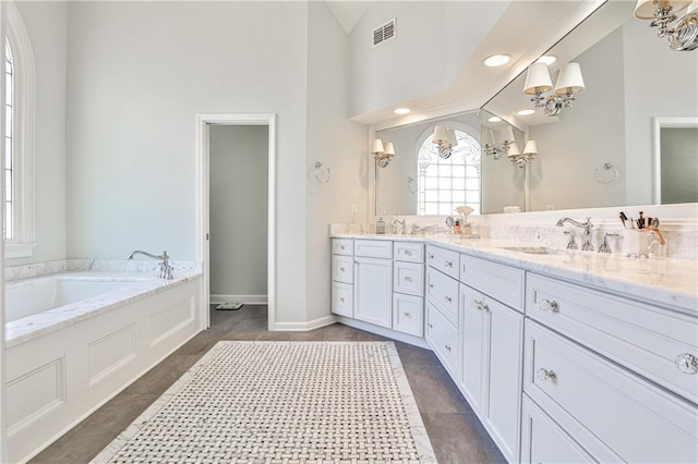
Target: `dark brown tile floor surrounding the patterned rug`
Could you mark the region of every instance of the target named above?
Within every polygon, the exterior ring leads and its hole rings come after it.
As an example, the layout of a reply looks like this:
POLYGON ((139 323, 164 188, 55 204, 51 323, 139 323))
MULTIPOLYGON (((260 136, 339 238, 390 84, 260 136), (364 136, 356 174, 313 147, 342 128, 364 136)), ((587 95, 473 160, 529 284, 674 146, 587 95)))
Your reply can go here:
MULTIPOLYGON (((32 463, 87 463, 219 340, 388 340, 335 323, 310 332, 269 332, 265 306, 210 313, 210 329, 185 343, 38 454, 32 463)), ((506 462, 432 352, 395 342, 440 463, 506 462)))

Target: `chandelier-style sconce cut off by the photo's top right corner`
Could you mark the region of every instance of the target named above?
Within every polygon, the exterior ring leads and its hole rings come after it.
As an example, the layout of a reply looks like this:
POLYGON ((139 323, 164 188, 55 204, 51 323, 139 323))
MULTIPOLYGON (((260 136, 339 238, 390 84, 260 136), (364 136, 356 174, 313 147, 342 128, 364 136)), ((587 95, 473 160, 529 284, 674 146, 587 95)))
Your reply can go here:
POLYGON ((657 27, 657 37, 666 37, 672 50, 695 50, 698 48, 698 9, 681 19, 674 14, 690 3, 691 0, 638 0, 635 17, 652 20, 650 27, 657 27))

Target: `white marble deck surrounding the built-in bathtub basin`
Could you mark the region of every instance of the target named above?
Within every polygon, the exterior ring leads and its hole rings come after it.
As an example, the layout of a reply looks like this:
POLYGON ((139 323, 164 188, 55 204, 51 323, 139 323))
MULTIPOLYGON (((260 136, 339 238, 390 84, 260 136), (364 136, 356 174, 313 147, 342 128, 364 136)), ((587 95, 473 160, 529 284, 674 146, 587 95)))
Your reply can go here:
POLYGON ((100 282, 132 283, 120 290, 100 294, 91 298, 48 309, 43 313, 5 322, 5 346, 12 347, 28 340, 41 337, 62 327, 73 325, 88 317, 124 306, 133 301, 164 292, 201 277, 201 270, 180 271, 172 280, 163 280, 146 272, 133 271, 77 271, 47 274, 8 282, 5 289, 37 285, 47 279, 75 279, 100 282))

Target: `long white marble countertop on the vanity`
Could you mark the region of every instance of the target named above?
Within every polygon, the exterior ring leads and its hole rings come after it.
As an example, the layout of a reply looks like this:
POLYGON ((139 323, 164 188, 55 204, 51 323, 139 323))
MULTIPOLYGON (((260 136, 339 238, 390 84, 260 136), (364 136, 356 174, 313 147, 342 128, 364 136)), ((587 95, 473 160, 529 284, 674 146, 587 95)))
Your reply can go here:
POLYGON ((507 247, 537 247, 516 240, 467 239, 455 234, 353 235, 336 239, 400 240, 423 242, 545 276, 657 303, 683 313, 698 314, 698 261, 670 258, 630 258, 614 254, 552 249, 527 254, 507 247))

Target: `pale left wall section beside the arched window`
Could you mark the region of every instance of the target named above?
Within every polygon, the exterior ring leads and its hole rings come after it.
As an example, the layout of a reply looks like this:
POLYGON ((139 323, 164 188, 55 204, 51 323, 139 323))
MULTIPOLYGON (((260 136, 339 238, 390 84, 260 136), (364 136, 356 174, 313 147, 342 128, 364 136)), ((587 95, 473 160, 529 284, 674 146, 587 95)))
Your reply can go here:
POLYGON ((11 266, 65 258, 65 78, 68 3, 17 2, 36 65, 34 169, 36 239, 31 258, 11 266))

